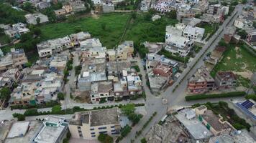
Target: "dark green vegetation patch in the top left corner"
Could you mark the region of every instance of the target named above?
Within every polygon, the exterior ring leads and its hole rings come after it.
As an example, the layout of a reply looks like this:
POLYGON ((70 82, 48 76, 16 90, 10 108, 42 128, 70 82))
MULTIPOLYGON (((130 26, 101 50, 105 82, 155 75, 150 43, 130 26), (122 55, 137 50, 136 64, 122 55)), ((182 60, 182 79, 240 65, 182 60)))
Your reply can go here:
POLYGON ((26 22, 24 11, 12 9, 9 4, 0 3, 0 24, 16 24, 18 22, 26 22))

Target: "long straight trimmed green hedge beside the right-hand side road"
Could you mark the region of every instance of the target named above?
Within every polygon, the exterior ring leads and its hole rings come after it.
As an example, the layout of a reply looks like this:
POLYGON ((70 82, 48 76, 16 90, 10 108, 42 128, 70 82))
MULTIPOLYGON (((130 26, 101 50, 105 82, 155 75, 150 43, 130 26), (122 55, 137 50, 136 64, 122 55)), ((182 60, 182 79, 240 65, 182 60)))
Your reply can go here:
POLYGON ((242 97, 245 92, 228 92, 224 94, 198 94, 186 96, 186 101, 198 100, 198 99, 209 99, 209 98, 222 98, 222 97, 242 97))

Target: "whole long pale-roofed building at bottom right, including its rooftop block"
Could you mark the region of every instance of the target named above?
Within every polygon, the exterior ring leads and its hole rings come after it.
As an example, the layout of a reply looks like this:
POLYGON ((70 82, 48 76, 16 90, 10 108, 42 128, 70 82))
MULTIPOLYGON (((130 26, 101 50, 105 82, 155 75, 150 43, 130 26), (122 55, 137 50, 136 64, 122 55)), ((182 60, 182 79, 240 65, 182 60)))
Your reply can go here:
POLYGON ((213 136, 209 129, 196 117, 196 112, 193 111, 193 109, 182 109, 174 116, 178 119, 181 127, 183 127, 193 139, 206 141, 213 136))

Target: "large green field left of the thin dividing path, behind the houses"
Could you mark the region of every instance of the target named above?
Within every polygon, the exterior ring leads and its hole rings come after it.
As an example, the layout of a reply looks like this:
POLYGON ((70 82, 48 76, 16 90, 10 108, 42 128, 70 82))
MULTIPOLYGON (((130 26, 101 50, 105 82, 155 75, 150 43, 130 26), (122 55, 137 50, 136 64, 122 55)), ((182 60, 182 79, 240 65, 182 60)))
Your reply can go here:
POLYGON ((45 24, 40 26, 40 29, 43 40, 63 37, 75 33, 76 29, 82 29, 88 31, 93 37, 99 38, 104 46, 111 49, 119 43, 127 19, 129 19, 128 14, 103 14, 99 18, 76 19, 73 23, 45 24), (106 25, 105 30, 102 28, 103 24, 106 25))

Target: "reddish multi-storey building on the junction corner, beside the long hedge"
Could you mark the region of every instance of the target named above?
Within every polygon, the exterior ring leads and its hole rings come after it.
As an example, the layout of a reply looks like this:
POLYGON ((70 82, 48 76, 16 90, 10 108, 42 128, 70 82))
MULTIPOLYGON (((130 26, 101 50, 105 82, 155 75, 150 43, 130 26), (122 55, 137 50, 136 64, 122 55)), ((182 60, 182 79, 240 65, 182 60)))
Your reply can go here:
POLYGON ((188 92, 201 94, 214 89, 214 79, 205 67, 196 69, 196 73, 188 79, 188 92))

